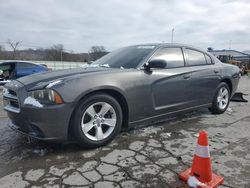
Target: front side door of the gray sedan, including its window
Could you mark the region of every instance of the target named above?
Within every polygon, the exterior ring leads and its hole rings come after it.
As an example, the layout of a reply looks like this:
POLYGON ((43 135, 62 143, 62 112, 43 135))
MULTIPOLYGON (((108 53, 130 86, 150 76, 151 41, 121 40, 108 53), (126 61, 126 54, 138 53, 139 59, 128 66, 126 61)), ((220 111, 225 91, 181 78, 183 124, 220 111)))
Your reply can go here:
POLYGON ((154 82, 151 85, 154 109, 169 113, 190 107, 189 93, 191 69, 185 67, 182 49, 164 47, 156 51, 152 60, 165 60, 164 69, 152 70, 154 82))

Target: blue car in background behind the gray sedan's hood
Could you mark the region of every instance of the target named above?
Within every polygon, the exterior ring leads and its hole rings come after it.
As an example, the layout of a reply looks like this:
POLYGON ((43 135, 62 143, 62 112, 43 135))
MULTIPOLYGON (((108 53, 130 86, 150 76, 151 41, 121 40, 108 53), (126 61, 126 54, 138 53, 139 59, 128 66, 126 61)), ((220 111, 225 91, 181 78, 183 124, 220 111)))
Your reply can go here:
POLYGON ((6 61, 0 63, 0 85, 10 80, 50 70, 46 65, 38 65, 25 61, 6 61))

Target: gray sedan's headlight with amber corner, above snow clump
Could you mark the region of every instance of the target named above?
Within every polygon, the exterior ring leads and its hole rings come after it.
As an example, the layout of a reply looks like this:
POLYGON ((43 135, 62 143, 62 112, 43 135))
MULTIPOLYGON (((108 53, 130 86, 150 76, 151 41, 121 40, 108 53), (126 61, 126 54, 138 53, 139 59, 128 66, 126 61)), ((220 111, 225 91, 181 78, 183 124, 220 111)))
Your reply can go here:
POLYGON ((30 97, 36 99, 41 104, 62 104, 61 96, 54 90, 43 89, 35 90, 28 93, 30 97))

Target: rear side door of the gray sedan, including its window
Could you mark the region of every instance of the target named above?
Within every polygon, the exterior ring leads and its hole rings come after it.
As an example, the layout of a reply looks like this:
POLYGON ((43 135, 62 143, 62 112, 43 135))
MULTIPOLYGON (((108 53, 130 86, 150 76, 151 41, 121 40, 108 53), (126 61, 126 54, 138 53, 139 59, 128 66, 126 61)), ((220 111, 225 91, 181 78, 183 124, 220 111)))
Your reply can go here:
POLYGON ((191 85, 195 105, 212 102, 216 86, 220 82, 219 68, 212 58, 201 51, 185 48, 187 66, 192 69, 191 85))

